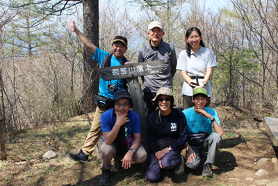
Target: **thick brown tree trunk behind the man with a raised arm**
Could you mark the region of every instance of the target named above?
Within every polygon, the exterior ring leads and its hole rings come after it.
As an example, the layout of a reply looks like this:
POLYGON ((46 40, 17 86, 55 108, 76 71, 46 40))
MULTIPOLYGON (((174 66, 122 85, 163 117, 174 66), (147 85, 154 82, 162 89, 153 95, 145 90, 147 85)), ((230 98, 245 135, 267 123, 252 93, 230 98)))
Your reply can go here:
MULTIPOLYGON (((99 47, 99 1, 83 1, 84 36, 99 47)), ((99 77, 97 77, 97 61, 92 59, 92 52, 84 48, 84 73, 83 73, 83 94, 85 93, 82 106, 86 112, 95 110, 93 96, 99 91, 99 77), (91 75, 92 73, 92 75, 91 75), (97 77, 97 78, 96 78, 97 77), (93 82, 90 83, 90 80, 93 82)))

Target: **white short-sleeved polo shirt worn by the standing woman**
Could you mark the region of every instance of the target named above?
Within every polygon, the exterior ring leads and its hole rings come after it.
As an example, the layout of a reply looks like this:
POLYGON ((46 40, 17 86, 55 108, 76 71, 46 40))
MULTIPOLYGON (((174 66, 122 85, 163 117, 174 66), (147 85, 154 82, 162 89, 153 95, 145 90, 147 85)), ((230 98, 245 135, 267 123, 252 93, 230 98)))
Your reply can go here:
MULTIPOLYGON (((217 67, 215 55, 211 49, 206 47, 200 47, 197 54, 191 51, 190 57, 187 56, 186 50, 183 50, 179 54, 177 63, 177 70, 186 71, 188 76, 204 77, 206 75, 206 68, 217 67)), ((197 83, 197 79, 193 79, 193 82, 197 83)), ((199 84, 204 82, 204 79, 198 79, 199 84)), ((211 97, 211 82, 207 82, 204 87, 208 93, 208 97, 211 97)), ((181 93, 183 95, 192 96, 193 88, 186 82, 183 82, 183 88, 181 93)))

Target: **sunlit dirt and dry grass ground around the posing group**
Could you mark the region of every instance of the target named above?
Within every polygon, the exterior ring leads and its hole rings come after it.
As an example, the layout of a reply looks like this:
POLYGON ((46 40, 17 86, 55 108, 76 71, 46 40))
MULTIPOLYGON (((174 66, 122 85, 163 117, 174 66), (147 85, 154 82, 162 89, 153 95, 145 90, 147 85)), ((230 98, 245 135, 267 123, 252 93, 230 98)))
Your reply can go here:
MULTIPOLYGON (((215 110, 225 133, 213 165, 213 178, 202 177, 202 166, 199 166, 195 171, 186 169, 183 176, 174 176, 173 170, 163 170, 161 180, 150 183, 144 176, 144 164, 131 166, 124 175, 118 174, 114 165, 110 185, 251 186, 260 185, 265 180, 276 185, 277 153, 263 122, 257 121, 263 116, 270 116, 271 111, 233 107, 215 107, 215 110), (268 161, 259 166, 257 162, 263 157, 268 161), (268 173, 256 176, 259 169, 268 173)), ((0 162, 0 185, 99 185, 101 170, 97 153, 90 156, 90 162, 86 164, 73 162, 67 157, 68 153, 78 153, 89 130, 85 117, 76 116, 65 123, 6 134, 8 160, 0 162), (48 150, 54 150, 58 157, 44 160, 42 155, 48 150)), ((202 164, 205 160, 202 158, 202 164)))

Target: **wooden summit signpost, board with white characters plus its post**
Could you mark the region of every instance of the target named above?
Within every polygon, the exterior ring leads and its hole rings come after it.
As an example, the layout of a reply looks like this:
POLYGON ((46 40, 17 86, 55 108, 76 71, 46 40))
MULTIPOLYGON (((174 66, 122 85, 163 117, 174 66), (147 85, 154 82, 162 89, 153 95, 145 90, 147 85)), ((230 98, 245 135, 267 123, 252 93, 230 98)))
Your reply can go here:
POLYGON ((147 141, 147 118, 145 113, 142 88, 138 76, 154 75, 160 73, 165 67, 165 61, 149 61, 144 63, 130 63, 126 65, 106 67, 97 69, 99 77, 105 81, 113 79, 127 79, 129 93, 131 94, 133 107, 131 108, 140 116, 142 146, 149 155, 149 144, 147 141))

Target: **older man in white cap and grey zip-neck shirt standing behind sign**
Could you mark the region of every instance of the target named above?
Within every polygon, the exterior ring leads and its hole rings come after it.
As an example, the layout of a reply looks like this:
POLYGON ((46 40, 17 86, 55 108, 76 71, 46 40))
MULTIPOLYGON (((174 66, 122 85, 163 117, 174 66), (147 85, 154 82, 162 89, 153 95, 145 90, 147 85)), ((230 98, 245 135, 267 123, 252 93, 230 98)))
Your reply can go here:
POLYGON ((156 109, 151 100, 156 96, 156 92, 162 86, 172 88, 172 80, 176 73, 177 56, 174 47, 164 42, 164 26, 162 22, 151 22, 148 26, 149 43, 144 45, 138 54, 138 63, 147 61, 163 60, 165 67, 156 75, 146 75, 142 78, 144 83, 144 103, 147 117, 156 109))

